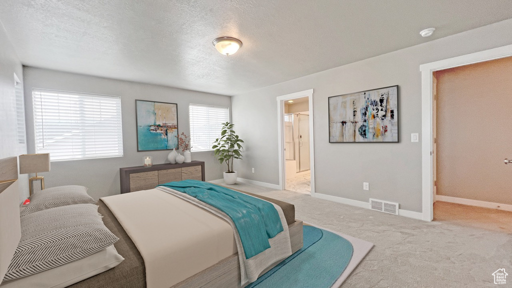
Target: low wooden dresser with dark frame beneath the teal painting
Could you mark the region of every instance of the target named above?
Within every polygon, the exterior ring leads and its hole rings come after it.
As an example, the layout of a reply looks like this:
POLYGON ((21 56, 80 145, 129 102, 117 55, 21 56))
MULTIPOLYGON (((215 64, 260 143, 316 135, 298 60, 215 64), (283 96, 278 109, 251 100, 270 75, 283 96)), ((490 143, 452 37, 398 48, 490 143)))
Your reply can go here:
POLYGON ((159 184, 195 179, 204 181, 204 162, 157 164, 152 167, 120 168, 121 193, 153 189, 159 184))

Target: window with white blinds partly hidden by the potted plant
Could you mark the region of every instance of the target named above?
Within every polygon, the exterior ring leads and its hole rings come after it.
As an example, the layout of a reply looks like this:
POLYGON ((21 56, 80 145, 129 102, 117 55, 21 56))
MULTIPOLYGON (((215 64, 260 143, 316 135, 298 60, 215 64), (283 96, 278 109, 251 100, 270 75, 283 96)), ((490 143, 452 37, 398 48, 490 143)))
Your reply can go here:
POLYGON ((229 121, 229 108, 190 104, 188 110, 192 151, 211 150, 222 125, 229 121))

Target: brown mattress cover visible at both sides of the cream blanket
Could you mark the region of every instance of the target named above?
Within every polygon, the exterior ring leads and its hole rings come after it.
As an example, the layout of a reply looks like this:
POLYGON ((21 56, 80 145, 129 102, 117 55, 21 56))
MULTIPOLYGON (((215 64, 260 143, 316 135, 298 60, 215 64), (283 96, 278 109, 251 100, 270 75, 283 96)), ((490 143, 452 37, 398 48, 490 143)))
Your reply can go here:
MULTIPOLYGON (((243 192, 246 193, 246 192, 243 192)), ((273 202, 281 207, 286 218, 288 225, 295 222, 295 207, 294 205, 271 199, 268 197, 246 193, 270 202, 273 202)), ((144 260, 137 250, 135 244, 126 234, 122 225, 115 218, 108 207, 103 201, 98 201, 99 209, 98 212, 103 215, 103 222, 105 226, 109 228, 112 233, 119 237, 114 246, 117 252, 124 257, 124 261, 121 262, 116 268, 109 271, 105 271, 101 274, 85 279, 78 283, 75 283, 69 287, 73 288, 93 288, 93 287, 105 287, 105 288, 140 288, 146 287, 145 268, 144 260)), ((193 276, 194 277, 194 276, 193 276)))

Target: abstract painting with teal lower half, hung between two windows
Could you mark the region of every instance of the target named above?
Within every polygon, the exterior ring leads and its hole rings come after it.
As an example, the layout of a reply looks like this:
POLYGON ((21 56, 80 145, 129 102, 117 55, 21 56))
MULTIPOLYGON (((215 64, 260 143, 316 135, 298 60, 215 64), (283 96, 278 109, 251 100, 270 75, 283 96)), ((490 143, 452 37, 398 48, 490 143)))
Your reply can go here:
POLYGON ((178 105, 135 100, 137 151, 178 148, 178 105))

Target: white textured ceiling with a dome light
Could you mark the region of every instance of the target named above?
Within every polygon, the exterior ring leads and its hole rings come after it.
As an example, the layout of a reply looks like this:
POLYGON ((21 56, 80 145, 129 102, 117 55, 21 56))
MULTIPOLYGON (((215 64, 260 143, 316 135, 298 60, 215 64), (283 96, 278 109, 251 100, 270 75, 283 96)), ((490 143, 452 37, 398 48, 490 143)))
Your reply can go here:
POLYGON ((508 18, 510 0, 0 1, 24 65, 224 95, 508 18), (221 55, 219 36, 243 47, 221 55))

